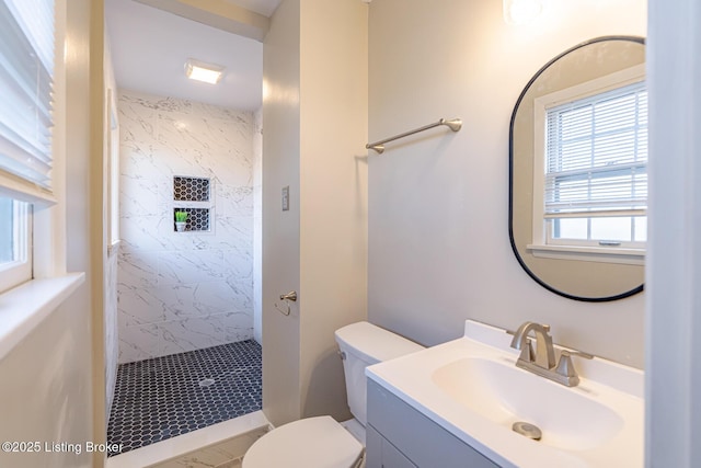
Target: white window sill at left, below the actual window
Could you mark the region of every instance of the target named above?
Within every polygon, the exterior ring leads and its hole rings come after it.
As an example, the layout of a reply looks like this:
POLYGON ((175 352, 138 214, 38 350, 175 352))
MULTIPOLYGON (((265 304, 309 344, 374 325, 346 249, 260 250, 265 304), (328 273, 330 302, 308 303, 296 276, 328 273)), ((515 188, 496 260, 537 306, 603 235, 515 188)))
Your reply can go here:
POLYGON ((0 361, 84 281, 84 273, 70 273, 32 279, 0 294, 0 361))

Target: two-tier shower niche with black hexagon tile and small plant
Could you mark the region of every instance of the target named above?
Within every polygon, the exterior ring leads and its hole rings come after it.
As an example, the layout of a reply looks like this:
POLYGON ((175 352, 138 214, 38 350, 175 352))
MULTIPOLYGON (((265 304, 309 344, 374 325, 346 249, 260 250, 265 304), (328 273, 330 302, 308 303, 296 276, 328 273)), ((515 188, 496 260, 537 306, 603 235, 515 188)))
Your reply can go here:
POLYGON ((173 176, 173 230, 210 232, 211 181, 206 178, 173 176))

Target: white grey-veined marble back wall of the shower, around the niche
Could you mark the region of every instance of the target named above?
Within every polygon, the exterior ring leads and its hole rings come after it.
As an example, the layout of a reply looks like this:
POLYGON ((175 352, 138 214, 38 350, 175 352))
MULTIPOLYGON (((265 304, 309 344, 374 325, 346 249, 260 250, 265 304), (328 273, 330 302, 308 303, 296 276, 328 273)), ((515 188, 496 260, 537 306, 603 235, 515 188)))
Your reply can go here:
POLYGON ((119 363, 253 336, 253 113, 122 92, 119 363), (209 232, 175 232, 173 176, 209 178, 209 232))

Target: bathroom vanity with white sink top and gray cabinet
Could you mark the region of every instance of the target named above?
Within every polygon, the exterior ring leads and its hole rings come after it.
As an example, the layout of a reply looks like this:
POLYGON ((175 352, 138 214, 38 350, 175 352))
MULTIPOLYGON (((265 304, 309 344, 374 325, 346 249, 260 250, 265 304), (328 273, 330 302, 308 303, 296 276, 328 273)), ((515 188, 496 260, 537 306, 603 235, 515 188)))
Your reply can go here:
POLYGON ((643 466, 641 370, 575 357, 567 387, 517 367, 512 339, 467 321, 461 339, 366 368, 367 467, 643 466))

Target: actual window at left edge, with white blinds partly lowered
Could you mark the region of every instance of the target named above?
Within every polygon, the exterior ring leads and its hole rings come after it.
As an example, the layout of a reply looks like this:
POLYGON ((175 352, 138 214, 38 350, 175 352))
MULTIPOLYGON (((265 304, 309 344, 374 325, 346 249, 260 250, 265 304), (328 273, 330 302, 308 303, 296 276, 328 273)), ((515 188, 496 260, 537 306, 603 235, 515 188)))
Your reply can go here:
POLYGON ((32 277, 32 209, 51 195, 53 0, 0 0, 0 292, 32 277))

